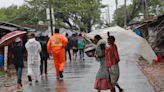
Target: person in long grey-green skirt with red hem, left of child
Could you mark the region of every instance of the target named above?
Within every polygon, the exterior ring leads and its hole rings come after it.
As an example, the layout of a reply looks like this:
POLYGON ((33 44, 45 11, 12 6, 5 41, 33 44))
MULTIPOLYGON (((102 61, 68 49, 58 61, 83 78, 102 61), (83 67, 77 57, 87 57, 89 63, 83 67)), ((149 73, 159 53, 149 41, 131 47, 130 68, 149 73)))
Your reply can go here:
POLYGON ((100 68, 96 75, 94 88, 97 89, 98 92, 101 92, 101 90, 112 89, 109 80, 109 72, 107 71, 105 65, 105 42, 102 40, 101 36, 96 35, 94 37, 93 43, 96 44, 96 60, 100 63, 100 68))

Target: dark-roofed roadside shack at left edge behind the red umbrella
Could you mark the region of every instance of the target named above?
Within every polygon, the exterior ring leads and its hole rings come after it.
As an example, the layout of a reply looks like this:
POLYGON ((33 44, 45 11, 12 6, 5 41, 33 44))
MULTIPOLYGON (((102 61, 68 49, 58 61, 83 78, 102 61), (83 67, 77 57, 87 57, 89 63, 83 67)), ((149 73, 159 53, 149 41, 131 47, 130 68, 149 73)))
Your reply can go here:
MULTIPOLYGON (((2 38, 4 38, 6 34, 11 32, 29 32, 31 30, 32 29, 30 28, 22 27, 13 23, 0 22, 0 39, 2 40, 2 38)), ((23 39, 23 42, 25 42, 25 39, 23 39)), ((0 44, 0 67, 4 68, 5 71, 8 70, 9 66, 12 63, 11 49, 12 44, 6 46, 2 46, 2 44, 0 44)))

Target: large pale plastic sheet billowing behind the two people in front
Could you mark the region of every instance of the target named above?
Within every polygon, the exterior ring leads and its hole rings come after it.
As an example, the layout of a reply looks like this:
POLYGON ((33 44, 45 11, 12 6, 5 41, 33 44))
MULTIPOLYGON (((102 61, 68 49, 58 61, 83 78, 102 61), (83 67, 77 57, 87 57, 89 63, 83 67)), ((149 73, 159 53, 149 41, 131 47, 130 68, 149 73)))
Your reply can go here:
POLYGON ((140 56, 146 59, 150 64, 156 60, 156 54, 142 37, 136 35, 131 30, 125 30, 119 26, 99 29, 86 34, 86 37, 92 38, 99 34, 104 40, 107 40, 107 32, 114 35, 120 58, 138 60, 140 56))

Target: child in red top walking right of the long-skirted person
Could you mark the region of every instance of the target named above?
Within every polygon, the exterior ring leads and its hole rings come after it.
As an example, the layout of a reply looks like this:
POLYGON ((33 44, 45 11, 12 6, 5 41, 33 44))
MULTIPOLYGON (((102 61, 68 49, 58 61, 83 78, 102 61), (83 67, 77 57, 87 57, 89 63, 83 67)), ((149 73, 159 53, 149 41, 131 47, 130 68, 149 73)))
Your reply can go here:
POLYGON ((117 83, 120 75, 119 71, 119 54, 117 50, 117 46, 115 44, 115 37, 110 36, 108 33, 108 45, 106 48, 106 67, 108 68, 111 84, 112 84, 112 92, 116 92, 115 86, 119 89, 119 92, 123 92, 123 89, 117 83))

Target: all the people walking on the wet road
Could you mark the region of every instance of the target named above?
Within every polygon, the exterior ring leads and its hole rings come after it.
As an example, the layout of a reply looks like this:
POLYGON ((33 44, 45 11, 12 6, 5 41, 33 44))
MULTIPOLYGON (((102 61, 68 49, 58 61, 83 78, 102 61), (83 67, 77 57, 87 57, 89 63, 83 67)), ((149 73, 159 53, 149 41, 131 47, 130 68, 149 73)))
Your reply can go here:
MULTIPOLYGON (((100 35, 94 36, 92 42, 96 45, 95 58, 100 63, 99 71, 96 75, 95 89, 98 92, 101 90, 110 89, 111 92, 116 92, 115 87, 119 92, 123 89, 118 84, 119 79, 119 54, 117 45, 115 44, 115 37, 107 34, 107 43, 100 35)), ((47 75, 47 59, 51 55, 54 59, 54 66, 56 69, 56 78, 63 78, 64 65, 66 63, 66 53, 69 54, 70 61, 72 56, 70 50, 73 52, 73 59, 76 60, 77 52, 79 51, 80 60, 84 60, 85 41, 82 34, 73 34, 72 36, 62 36, 59 34, 59 29, 55 29, 55 34, 49 38, 47 43, 41 44, 35 39, 34 34, 28 36, 28 41, 25 44, 27 51, 27 76, 29 84, 32 85, 32 79, 38 83, 39 75, 43 75, 43 65, 45 75, 47 75), (40 72, 39 72, 40 71, 40 72)), ((15 40, 13 47, 14 65, 17 73, 17 89, 22 88, 22 71, 23 71, 23 54, 24 46, 20 38, 15 40)))

